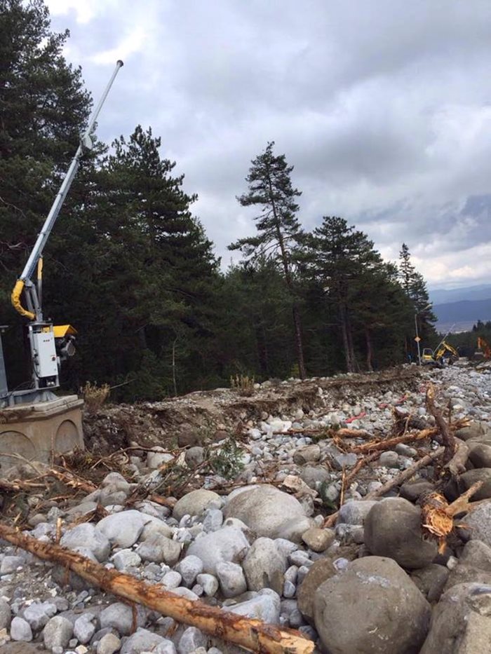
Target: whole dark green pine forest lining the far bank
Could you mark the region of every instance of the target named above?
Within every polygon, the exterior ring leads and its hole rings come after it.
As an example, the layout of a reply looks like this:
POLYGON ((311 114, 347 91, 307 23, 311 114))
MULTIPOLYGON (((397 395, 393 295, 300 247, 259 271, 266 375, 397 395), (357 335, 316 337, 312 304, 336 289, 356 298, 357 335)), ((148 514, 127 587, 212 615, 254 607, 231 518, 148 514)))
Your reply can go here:
MULTIPOLYGON (((88 121, 82 71, 41 0, 0 0, 0 325, 8 383, 29 386, 23 320, 10 294, 88 121)), ((151 127, 97 142, 44 257, 43 303, 78 332, 62 391, 107 383, 119 401, 256 381, 380 369, 416 358, 415 321, 436 320, 408 245, 384 261, 368 236, 325 207, 302 227, 301 190, 274 141, 244 161, 253 233, 224 270, 197 196, 151 127)))

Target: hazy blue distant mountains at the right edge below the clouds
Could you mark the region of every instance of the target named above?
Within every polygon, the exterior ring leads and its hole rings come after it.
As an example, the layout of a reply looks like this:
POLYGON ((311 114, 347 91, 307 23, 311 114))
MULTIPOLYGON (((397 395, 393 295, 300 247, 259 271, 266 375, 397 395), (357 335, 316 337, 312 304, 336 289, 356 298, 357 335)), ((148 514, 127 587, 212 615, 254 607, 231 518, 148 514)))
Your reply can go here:
POLYGON ((491 285, 481 284, 456 289, 436 289, 429 292, 433 313, 438 317, 436 328, 446 332, 472 329, 478 320, 491 320, 491 285))

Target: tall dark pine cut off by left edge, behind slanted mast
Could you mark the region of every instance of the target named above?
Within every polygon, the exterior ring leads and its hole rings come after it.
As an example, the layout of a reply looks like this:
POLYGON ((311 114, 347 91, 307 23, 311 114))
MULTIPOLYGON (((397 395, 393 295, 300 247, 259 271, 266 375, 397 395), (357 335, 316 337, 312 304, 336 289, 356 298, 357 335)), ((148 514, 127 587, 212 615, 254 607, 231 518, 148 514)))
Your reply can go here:
MULTIPOLYGON (((11 289, 90 112, 81 71, 62 56, 67 37, 51 32, 41 0, 0 0, 0 324, 14 327, 5 336, 11 388, 31 377, 11 289)), ((60 220, 66 215, 64 208, 60 220)), ((45 254, 53 254, 51 241, 45 254)))

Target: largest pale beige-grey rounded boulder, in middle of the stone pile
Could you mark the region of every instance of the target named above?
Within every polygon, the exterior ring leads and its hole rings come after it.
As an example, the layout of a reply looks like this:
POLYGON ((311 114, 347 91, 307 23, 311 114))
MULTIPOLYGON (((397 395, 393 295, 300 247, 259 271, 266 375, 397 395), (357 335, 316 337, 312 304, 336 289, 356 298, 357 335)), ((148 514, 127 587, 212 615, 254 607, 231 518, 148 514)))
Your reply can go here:
POLYGON ((302 534, 313 524, 296 498, 267 484, 232 494, 224 514, 242 520, 257 536, 295 543, 300 543, 302 534))

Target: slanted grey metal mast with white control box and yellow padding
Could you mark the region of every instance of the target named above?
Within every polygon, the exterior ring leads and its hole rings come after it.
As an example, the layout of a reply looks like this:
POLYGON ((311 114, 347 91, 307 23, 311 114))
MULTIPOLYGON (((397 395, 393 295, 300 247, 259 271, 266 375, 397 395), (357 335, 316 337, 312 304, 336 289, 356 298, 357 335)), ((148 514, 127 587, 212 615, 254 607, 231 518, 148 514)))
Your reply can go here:
POLYGON ((32 364, 32 388, 8 391, 0 336, 0 408, 13 407, 16 404, 34 404, 55 400, 56 396, 53 390, 60 386, 60 363, 74 354, 74 336, 76 334, 74 327, 72 325, 53 325, 51 321, 45 320, 43 317, 42 255, 44 246, 79 168, 80 160, 84 154, 93 148, 95 121, 112 87, 116 74, 118 74, 122 66, 122 61, 116 62, 116 68, 111 79, 109 79, 105 91, 102 93, 102 97, 90 117, 87 129, 81 135, 79 147, 72 159, 72 163, 69 165, 48 217, 39 232, 27 264, 25 264, 24 270, 17 282, 15 282, 11 296, 13 307, 20 315, 29 319, 27 336, 32 364), (36 280, 33 279, 35 273, 36 280), (22 294, 25 306, 22 305, 22 294))

